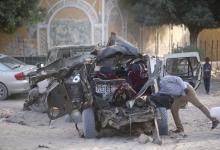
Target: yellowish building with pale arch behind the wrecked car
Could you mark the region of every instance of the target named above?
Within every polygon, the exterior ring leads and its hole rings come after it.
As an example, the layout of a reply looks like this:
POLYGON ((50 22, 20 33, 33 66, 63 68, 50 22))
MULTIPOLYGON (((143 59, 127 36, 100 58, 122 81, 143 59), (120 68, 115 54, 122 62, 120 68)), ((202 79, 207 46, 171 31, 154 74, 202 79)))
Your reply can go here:
POLYGON ((105 44, 111 32, 127 39, 142 53, 163 56, 189 44, 184 26, 141 27, 128 24, 117 0, 41 0, 44 21, 0 34, 0 53, 13 56, 46 55, 56 45, 105 44))

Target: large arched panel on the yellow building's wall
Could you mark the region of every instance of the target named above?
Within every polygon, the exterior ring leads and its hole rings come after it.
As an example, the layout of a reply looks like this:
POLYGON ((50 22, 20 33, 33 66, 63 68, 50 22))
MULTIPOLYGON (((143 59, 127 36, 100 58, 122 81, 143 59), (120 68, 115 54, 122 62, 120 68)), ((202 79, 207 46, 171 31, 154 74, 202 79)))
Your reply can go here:
POLYGON ((54 15, 49 26, 50 46, 92 44, 92 25, 80 9, 66 7, 54 15))

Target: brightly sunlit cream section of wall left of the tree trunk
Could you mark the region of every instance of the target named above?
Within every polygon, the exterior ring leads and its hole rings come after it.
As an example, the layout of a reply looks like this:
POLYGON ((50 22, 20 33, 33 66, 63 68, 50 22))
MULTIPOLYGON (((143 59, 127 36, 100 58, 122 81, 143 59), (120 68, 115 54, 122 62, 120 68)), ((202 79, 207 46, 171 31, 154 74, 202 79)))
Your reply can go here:
POLYGON ((189 31, 184 26, 142 27, 142 47, 144 53, 164 56, 172 49, 189 45, 189 31))

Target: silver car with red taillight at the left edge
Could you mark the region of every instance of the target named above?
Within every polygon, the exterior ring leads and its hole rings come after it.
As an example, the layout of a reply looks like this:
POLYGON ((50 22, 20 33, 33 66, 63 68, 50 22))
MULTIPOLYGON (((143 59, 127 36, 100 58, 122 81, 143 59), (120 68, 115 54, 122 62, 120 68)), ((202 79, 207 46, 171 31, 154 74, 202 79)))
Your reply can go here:
POLYGON ((15 58, 0 54, 0 100, 17 93, 29 90, 26 75, 36 70, 33 65, 27 65, 15 58))

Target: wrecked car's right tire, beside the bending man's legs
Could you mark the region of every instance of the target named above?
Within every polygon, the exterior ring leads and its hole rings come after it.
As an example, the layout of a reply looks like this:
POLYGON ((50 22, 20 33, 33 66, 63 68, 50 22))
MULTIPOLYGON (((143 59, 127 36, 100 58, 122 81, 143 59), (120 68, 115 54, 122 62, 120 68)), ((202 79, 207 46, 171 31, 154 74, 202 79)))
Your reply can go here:
POLYGON ((167 109, 164 107, 158 108, 160 119, 157 120, 160 135, 168 135, 168 115, 167 109))

